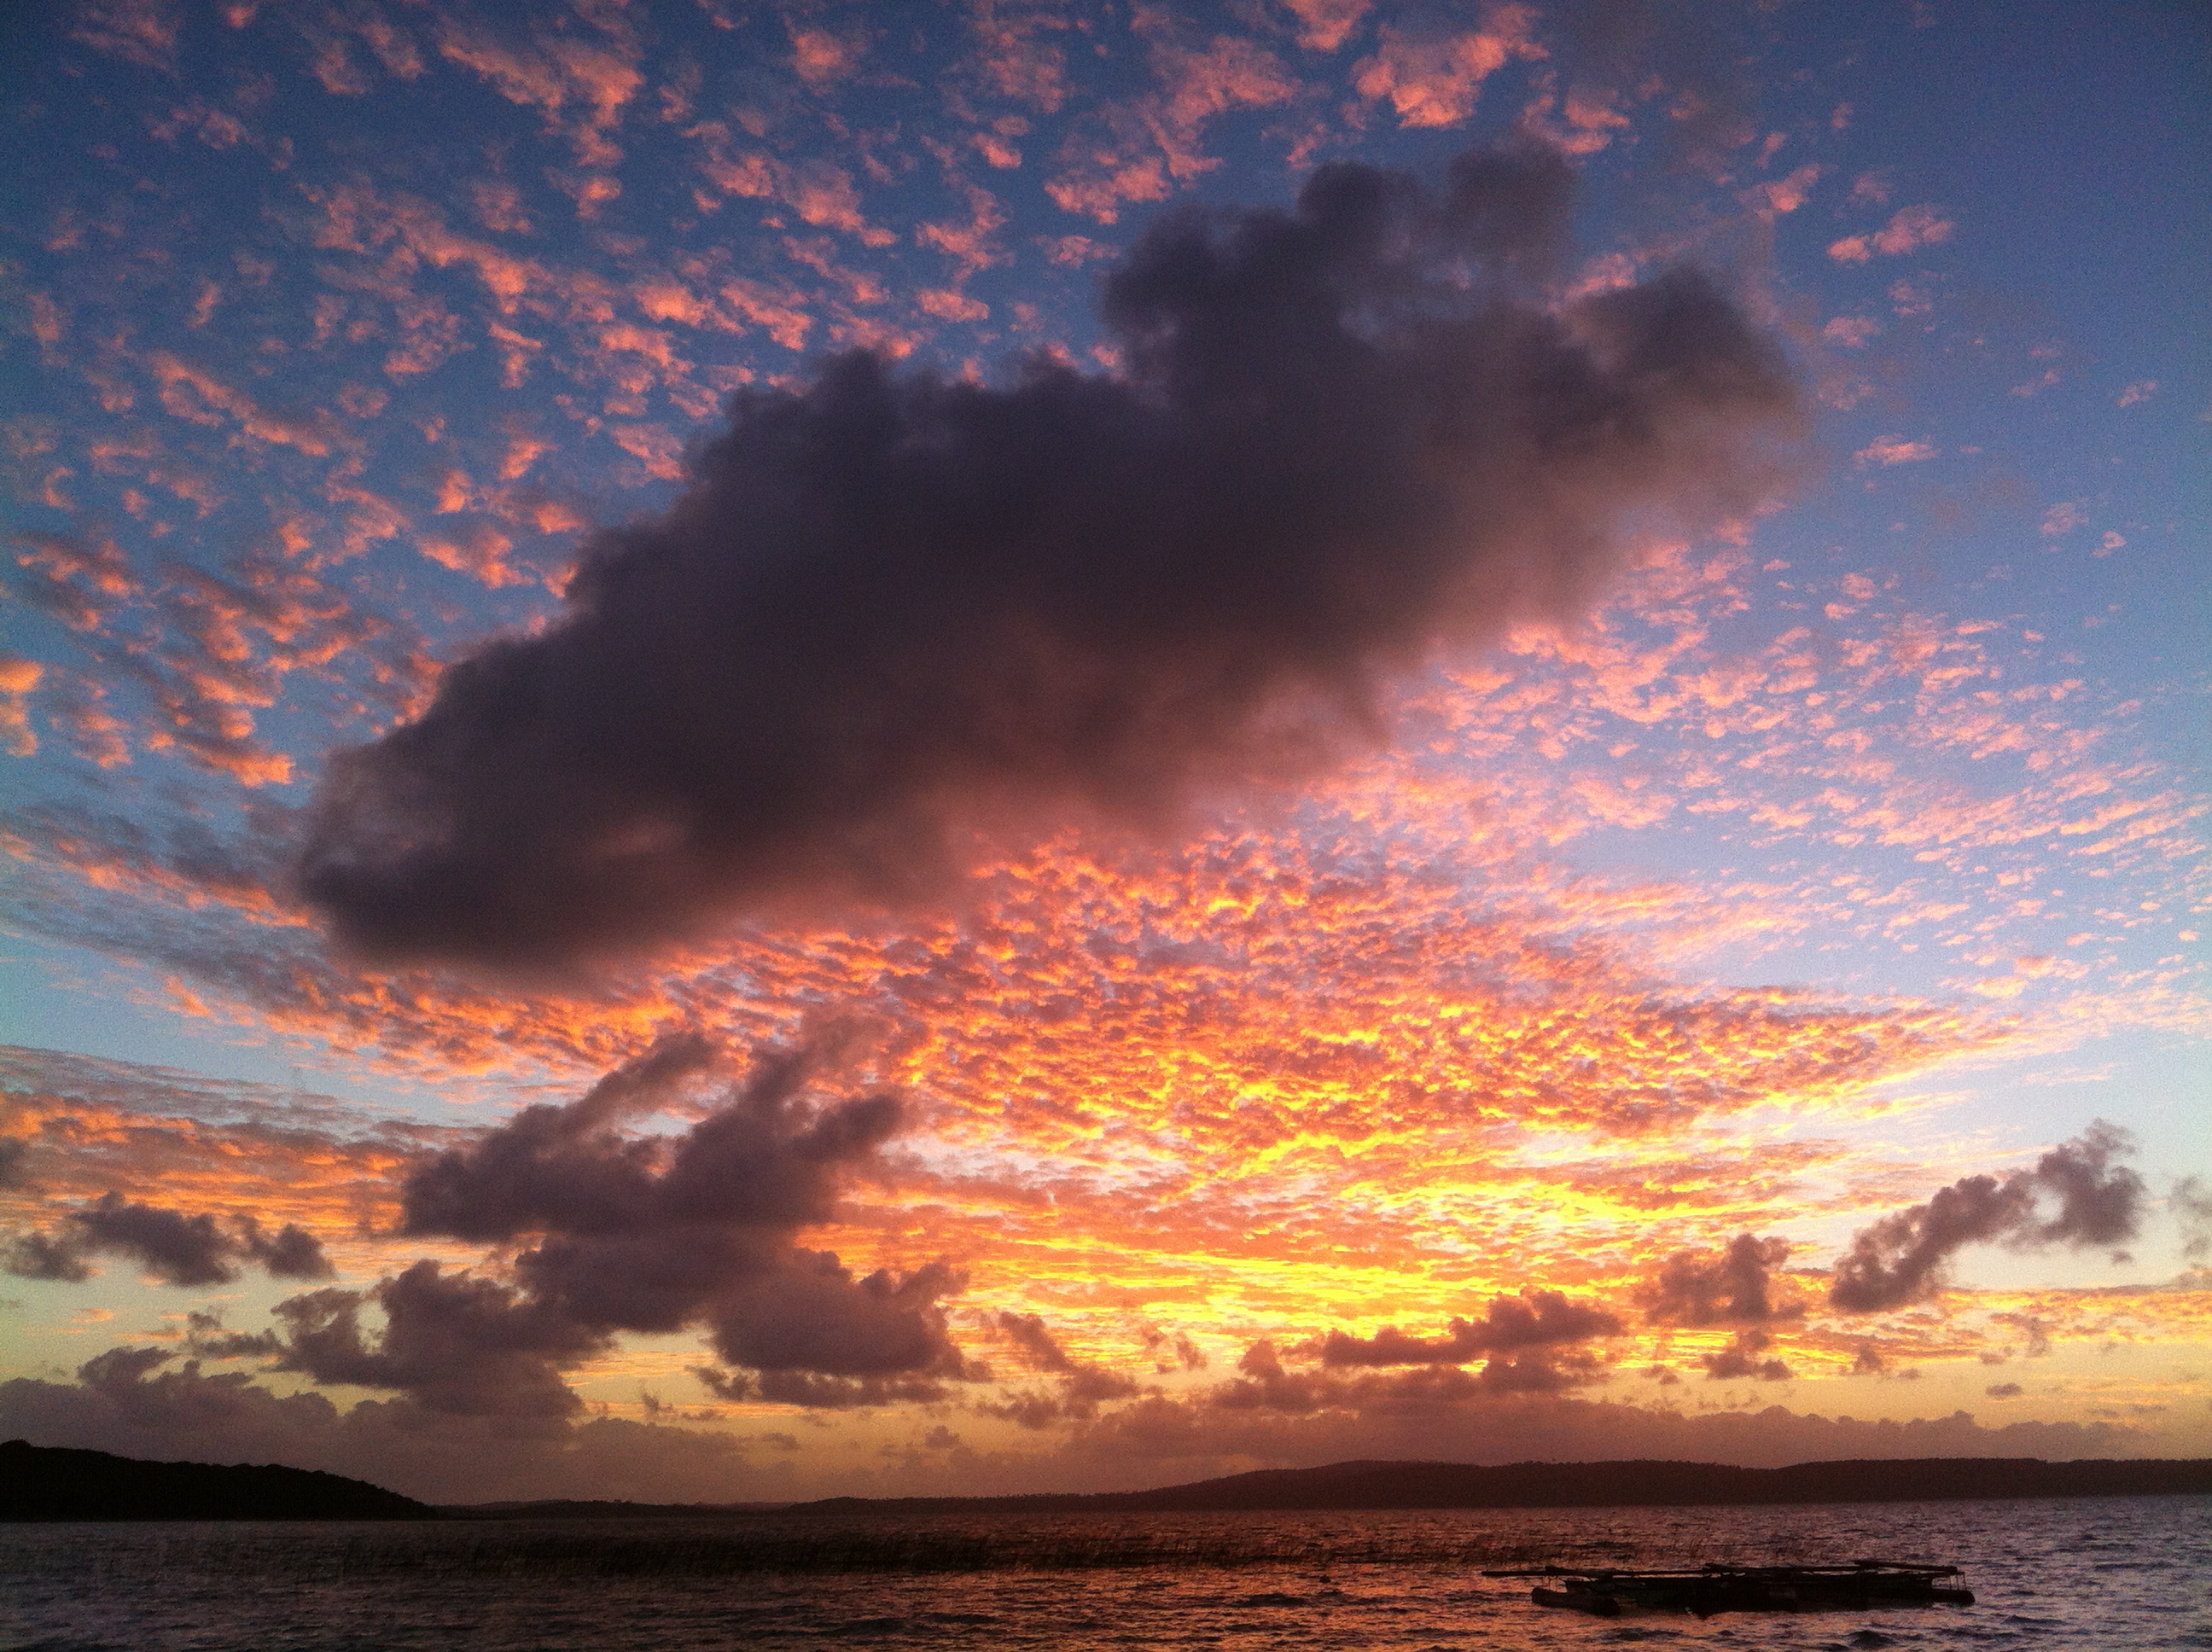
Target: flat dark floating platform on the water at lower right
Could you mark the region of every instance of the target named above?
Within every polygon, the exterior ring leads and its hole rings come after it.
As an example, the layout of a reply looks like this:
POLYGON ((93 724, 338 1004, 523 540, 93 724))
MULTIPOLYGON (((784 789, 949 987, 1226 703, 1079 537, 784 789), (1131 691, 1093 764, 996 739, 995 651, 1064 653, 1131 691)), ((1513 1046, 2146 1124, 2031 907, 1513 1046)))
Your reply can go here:
POLYGON ((1537 1606, 1593 1617, 1621 1612, 1849 1612, 1869 1606, 1973 1606, 1973 1590, 1953 1583, 1958 1566, 1863 1559, 1843 1566, 1721 1566, 1694 1572, 1628 1572, 1575 1566, 1484 1572, 1542 1577, 1528 1590, 1537 1606))

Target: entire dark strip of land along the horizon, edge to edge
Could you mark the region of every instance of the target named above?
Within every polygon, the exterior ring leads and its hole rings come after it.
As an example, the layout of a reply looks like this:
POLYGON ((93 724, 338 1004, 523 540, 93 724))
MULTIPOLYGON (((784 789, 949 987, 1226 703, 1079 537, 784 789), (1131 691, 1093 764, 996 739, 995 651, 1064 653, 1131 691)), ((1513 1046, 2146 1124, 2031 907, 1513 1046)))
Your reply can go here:
POLYGON ((1015 1497, 825 1497, 805 1504, 546 1499, 431 1506, 307 1468, 142 1462, 0 1444, 0 1519, 745 1519, 759 1515, 1237 1513, 1321 1508, 1608 1508, 1867 1504, 2212 1493, 2205 1457, 1905 1457, 1736 1468, 1714 1462, 1336 1462, 1155 1491, 1015 1497))

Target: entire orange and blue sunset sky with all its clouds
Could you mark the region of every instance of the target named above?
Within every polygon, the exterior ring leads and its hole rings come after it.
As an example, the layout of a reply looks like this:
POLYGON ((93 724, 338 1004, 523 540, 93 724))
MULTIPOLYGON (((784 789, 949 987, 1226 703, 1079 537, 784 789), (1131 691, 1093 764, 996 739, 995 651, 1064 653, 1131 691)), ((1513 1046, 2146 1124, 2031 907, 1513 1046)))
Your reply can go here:
POLYGON ((2208 46, 24 9, 0 1437, 2212 1455, 2208 46))

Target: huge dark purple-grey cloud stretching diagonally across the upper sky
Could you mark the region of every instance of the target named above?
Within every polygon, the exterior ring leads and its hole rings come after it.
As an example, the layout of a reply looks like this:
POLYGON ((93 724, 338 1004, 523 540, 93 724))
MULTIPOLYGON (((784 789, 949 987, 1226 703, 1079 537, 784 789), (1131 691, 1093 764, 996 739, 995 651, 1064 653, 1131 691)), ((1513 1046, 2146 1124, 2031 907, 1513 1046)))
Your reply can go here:
POLYGON ((1104 287, 1113 376, 847 354, 741 394, 551 628, 332 759, 301 889, 369 955, 551 966, 1369 739, 1389 672, 1756 506, 1796 433, 1705 274, 1535 285, 1568 186, 1327 166, 1290 212, 1159 219, 1104 287))

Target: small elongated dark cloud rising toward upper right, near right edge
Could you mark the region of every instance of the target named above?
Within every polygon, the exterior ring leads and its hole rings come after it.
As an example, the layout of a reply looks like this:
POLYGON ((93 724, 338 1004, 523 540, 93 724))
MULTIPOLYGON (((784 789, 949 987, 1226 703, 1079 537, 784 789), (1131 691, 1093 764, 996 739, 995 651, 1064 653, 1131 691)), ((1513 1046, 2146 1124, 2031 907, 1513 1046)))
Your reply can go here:
POLYGON ((1966 1245, 2119 1245, 2135 1238, 2143 1179, 2115 1163, 2132 1146, 2126 1130, 2097 1119, 2033 1170, 2002 1181, 1960 1177, 1924 1205, 1854 1234, 1836 1261, 1827 1300, 1851 1314, 1916 1303, 1942 1285, 1944 1265, 1966 1245))

